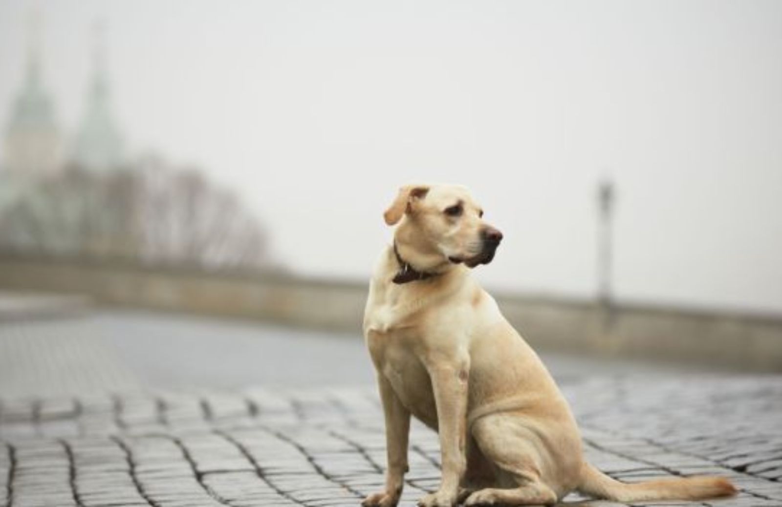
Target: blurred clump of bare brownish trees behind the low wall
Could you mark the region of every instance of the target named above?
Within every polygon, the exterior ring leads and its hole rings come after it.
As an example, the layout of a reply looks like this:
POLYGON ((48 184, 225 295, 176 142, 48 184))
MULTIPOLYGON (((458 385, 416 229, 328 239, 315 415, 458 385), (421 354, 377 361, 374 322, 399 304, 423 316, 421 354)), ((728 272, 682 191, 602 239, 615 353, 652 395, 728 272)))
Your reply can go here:
POLYGON ((268 262, 264 228, 233 192, 155 158, 41 181, 0 216, 0 248, 209 269, 268 262))

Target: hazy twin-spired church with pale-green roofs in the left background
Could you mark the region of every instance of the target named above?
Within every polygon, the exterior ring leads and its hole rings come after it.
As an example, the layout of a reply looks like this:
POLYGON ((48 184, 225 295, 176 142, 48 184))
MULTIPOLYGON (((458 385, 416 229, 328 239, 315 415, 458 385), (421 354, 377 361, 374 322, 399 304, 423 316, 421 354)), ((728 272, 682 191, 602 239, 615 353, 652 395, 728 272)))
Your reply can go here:
POLYGON ((5 246, 23 250, 45 242, 53 252, 105 250, 106 243, 122 244, 125 238, 116 237, 124 232, 117 215, 127 212, 127 206, 107 206, 106 202, 108 196, 114 203, 127 196, 117 196, 114 188, 124 181, 104 178, 120 170, 123 152, 120 130, 109 107, 102 30, 95 30, 91 84, 75 134, 63 133, 58 127, 55 101, 43 74, 41 19, 34 12, 24 78, 11 107, 5 156, 0 161, 0 239, 5 246), (77 234, 87 220, 91 229, 97 227, 102 234, 88 238, 77 234))

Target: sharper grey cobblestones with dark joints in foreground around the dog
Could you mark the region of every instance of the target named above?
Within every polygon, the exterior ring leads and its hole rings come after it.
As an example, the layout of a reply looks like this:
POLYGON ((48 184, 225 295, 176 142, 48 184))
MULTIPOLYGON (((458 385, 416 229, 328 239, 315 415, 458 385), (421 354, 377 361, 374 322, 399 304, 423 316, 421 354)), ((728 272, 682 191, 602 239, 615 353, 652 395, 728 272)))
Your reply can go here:
MULTIPOLYGON (((588 458, 612 476, 719 474, 741 495, 685 505, 782 505, 780 377, 602 377, 565 394, 588 458)), ((366 387, 4 399, 0 505, 357 505, 382 486, 376 399, 366 387)), ((436 435, 418 425, 410 464, 402 505, 439 479, 436 435)))

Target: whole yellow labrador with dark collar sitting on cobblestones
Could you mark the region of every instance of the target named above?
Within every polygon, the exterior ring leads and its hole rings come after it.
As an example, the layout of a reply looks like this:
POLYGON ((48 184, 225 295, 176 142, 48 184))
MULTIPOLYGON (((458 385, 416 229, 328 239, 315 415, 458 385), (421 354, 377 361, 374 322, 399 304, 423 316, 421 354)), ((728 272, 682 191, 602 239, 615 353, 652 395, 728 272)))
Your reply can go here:
POLYGON ((736 491, 719 477, 625 484, 585 462, 565 398, 526 341, 470 277, 502 240, 465 187, 402 187, 385 213, 393 246, 372 277, 364 336, 386 419, 384 491, 396 505, 411 415, 439 432, 443 477, 419 505, 550 505, 570 491, 619 502, 736 491))

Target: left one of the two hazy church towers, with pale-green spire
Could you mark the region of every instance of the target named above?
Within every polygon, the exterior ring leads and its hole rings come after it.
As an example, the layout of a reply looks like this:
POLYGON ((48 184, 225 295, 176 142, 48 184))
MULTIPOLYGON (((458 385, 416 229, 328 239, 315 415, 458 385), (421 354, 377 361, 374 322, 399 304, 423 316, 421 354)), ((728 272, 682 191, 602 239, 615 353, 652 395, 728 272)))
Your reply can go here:
POLYGON ((38 180, 62 166, 62 141, 52 99, 41 77, 41 16, 33 12, 24 83, 5 132, 3 168, 17 180, 38 180))

